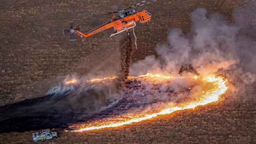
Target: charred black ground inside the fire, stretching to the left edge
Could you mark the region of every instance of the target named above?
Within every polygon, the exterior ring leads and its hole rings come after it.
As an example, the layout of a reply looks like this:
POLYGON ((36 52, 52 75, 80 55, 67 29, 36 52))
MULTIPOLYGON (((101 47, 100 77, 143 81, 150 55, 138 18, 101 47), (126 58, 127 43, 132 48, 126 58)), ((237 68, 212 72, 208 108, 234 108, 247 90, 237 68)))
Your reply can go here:
MULTIPOLYGON (((148 91, 141 85, 141 81, 126 80, 119 99, 107 98, 109 88, 104 86, 90 84, 83 87, 74 85, 74 89, 63 87, 66 91, 61 94, 56 91, 40 98, 0 107, 0 133, 44 128, 66 129, 70 124, 117 116, 153 103, 170 101, 170 98, 154 96, 160 86, 154 85, 148 91), (83 92, 78 93, 81 89, 83 92), (154 99, 148 102, 146 95, 152 95, 154 99)), ((173 90, 167 93, 175 96, 173 90)))

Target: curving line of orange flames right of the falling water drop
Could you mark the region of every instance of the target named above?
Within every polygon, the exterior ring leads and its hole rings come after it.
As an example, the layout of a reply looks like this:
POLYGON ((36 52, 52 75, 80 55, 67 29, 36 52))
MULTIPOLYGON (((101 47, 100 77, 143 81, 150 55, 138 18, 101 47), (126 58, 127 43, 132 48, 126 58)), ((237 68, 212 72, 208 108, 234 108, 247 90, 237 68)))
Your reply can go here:
MULTIPOLYGON (((128 77, 128 79, 158 79, 160 81, 168 80, 174 78, 173 76, 164 76, 163 74, 146 74, 138 77, 128 77)), ((184 78, 184 77, 182 77, 184 78)), ((189 102, 178 103, 176 106, 165 106, 158 109, 158 112, 155 113, 146 113, 146 114, 128 114, 122 116, 121 118, 111 118, 114 122, 108 122, 107 120, 100 120, 93 124, 82 124, 80 129, 74 130, 75 132, 88 131, 93 129, 102 129, 107 127, 119 127, 127 124, 132 124, 134 122, 141 122, 143 120, 151 119, 162 114, 170 114, 174 111, 184 110, 184 109, 194 109, 200 105, 206 105, 208 103, 216 102, 219 100, 222 94, 226 92, 228 87, 226 86, 227 80, 221 76, 206 76, 200 78, 199 76, 193 76, 191 79, 197 81, 200 80, 201 83, 206 83, 206 89, 200 92, 199 100, 192 100, 189 102)), ((72 126, 71 126, 72 127, 72 126)))

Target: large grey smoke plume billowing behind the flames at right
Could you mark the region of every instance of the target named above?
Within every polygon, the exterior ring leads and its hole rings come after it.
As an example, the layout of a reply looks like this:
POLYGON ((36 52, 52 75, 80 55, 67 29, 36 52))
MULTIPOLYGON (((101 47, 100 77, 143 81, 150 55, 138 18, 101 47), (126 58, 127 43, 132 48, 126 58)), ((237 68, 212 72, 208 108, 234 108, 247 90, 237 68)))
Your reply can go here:
MULTIPOLYGON (((234 10, 234 22, 228 23, 217 13, 209 14, 206 9, 196 9, 191 14, 191 31, 185 35, 180 29, 172 29, 167 37, 168 44, 156 47, 158 57, 147 56, 133 63, 130 75, 148 72, 173 76, 224 76, 229 82, 230 96, 245 95, 256 80, 256 26, 255 9, 234 10), (235 95, 234 95, 235 94, 235 95)), ((143 82, 142 82, 143 85, 143 82)), ((146 90, 153 86, 147 85, 146 90)), ((159 89, 158 94, 193 87, 190 92, 181 92, 173 102, 184 98, 195 99, 202 85, 180 79, 159 89)))

